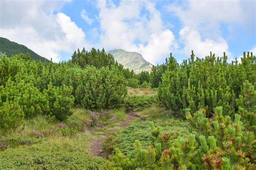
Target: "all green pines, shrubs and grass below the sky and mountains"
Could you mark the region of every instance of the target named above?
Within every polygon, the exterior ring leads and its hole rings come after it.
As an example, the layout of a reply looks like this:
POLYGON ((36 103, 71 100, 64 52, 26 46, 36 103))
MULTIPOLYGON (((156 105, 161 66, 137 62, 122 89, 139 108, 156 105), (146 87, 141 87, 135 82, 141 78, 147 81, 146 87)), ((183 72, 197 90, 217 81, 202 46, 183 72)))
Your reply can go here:
POLYGON ((3 55, 0 169, 255 169, 255 59, 171 54, 134 74, 104 49, 3 55))

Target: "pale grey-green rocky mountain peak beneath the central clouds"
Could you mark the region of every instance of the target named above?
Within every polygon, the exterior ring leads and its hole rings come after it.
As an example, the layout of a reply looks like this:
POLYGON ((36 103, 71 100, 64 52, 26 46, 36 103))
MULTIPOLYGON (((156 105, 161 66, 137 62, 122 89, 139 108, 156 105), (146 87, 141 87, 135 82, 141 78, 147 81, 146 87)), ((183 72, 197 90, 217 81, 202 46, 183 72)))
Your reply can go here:
POLYGON ((117 62, 124 65, 125 68, 134 70, 135 73, 140 73, 142 71, 150 72, 152 64, 147 62, 143 56, 137 52, 127 52, 124 49, 113 49, 109 51, 110 54, 114 56, 117 62))

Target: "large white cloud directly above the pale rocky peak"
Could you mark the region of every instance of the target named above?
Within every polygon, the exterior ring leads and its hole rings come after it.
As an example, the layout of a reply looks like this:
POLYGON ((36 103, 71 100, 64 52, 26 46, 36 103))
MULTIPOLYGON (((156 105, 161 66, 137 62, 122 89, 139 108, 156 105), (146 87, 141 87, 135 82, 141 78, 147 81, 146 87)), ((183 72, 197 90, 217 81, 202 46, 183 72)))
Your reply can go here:
POLYGON ((100 34, 99 46, 136 51, 151 62, 166 58, 176 42, 172 31, 165 29, 160 12, 154 3, 98 1, 100 34), (146 12, 143 12, 145 10, 146 12))

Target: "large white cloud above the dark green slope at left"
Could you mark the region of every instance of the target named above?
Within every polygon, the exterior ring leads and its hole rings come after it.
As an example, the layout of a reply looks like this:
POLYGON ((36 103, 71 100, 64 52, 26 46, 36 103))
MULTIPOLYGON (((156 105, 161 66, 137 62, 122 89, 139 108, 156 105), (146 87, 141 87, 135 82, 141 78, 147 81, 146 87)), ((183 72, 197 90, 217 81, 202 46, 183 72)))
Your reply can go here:
POLYGON ((73 52, 86 45, 83 30, 69 16, 58 12, 64 4, 59 1, 2 1, 0 36, 58 62, 60 52, 73 52))

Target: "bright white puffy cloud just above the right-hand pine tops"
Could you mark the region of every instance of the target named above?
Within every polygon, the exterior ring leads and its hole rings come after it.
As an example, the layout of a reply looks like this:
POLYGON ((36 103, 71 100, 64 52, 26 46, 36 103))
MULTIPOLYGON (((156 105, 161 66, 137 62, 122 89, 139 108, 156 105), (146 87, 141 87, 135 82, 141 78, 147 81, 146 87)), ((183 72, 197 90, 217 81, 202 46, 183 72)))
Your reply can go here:
POLYGON ((193 30, 190 27, 184 27, 179 32, 180 42, 185 45, 182 49, 187 55, 191 54, 191 50, 199 57, 205 57, 210 55, 210 52, 215 53, 217 56, 226 55, 231 56, 228 52, 227 41, 221 37, 215 39, 202 39, 197 30, 193 30))

